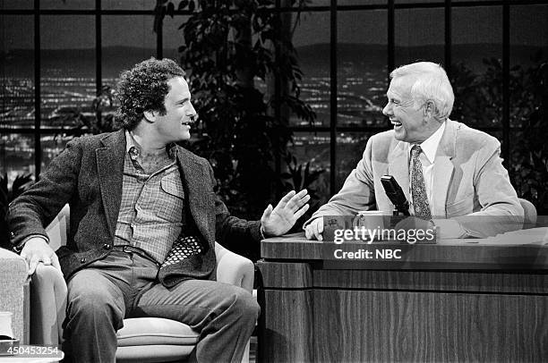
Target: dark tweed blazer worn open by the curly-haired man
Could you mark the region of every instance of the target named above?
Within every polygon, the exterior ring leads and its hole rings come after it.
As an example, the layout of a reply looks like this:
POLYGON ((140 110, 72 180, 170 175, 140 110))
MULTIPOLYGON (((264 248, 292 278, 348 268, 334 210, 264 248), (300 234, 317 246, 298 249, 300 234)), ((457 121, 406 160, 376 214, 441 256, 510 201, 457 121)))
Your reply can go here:
MULTIPOLYGON (((210 163, 178 147, 177 164, 186 196, 187 220, 209 245, 205 252, 175 265, 162 267, 161 283, 173 286, 188 278, 214 278, 215 241, 261 240, 260 221, 231 216, 214 192, 216 183, 210 163)), ((107 256, 114 246, 116 221, 122 198, 124 131, 71 140, 48 165, 30 190, 10 205, 8 224, 12 244, 32 234, 46 236, 49 224, 61 208, 71 208, 66 246, 56 251, 66 279, 93 261, 107 256)))

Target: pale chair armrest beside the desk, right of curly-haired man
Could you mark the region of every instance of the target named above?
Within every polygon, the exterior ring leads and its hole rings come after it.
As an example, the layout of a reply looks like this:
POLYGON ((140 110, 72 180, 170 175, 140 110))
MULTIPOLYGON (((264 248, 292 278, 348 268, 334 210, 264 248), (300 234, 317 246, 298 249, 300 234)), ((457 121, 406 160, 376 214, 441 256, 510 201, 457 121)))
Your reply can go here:
POLYGON ((240 286, 250 293, 253 291, 255 267, 250 259, 236 255, 217 242, 215 242, 215 256, 219 283, 240 286))

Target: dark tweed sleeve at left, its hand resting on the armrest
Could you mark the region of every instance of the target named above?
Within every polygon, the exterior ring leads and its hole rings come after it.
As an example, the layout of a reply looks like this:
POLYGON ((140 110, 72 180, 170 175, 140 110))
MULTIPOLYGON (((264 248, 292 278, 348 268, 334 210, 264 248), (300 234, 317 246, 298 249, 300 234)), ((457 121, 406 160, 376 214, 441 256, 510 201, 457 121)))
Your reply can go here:
POLYGON ((13 246, 20 245, 33 234, 47 238, 45 226, 51 223, 73 195, 78 182, 81 153, 79 139, 71 140, 47 170, 40 174, 39 182, 10 204, 7 222, 13 246))

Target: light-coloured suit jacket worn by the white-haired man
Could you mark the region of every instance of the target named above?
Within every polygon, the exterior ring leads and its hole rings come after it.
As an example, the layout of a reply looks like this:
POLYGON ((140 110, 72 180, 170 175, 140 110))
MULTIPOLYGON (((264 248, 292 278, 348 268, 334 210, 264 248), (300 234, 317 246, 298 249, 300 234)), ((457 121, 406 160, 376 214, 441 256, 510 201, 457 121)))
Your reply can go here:
MULTIPOLYGON (((409 197, 408 144, 385 131, 367 141, 364 156, 342 189, 304 226, 322 215, 394 209, 381 176, 394 176, 409 197)), ((433 165, 432 218, 450 218, 464 229, 461 237, 486 237, 521 228, 523 208, 502 166, 501 143, 465 124, 446 121, 433 165)))

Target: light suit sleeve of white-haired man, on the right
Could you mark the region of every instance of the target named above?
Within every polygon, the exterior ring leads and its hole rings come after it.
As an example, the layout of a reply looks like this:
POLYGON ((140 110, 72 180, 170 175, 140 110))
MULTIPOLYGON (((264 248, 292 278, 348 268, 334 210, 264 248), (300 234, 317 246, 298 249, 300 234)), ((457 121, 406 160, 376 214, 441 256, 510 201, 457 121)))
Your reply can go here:
POLYGON ((453 218, 466 231, 463 237, 484 238, 522 228, 523 208, 502 165, 497 139, 486 139, 477 153, 473 183, 481 210, 453 218))

